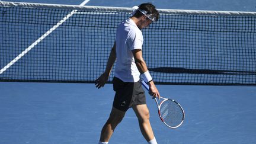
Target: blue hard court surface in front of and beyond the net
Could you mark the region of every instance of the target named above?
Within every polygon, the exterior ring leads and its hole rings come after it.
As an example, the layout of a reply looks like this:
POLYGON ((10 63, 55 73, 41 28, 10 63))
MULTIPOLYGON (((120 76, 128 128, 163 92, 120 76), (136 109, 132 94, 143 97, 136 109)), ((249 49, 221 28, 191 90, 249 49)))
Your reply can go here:
MULTIPOLYGON (((83 1, 19 1, 79 5, 83 1)), ((133 7, 142 2, 88 1, 86 5, 133 7)), ((157 8, 256 11, 255 1, 151 1, 157 8), (196 4, 199 3, 199 4, 196 4)), ((157 85, 177 100, 185 121, 169 129, 147 97, 158 143, 256 143, 254 86, 157 85)), ((111 110, 112 85, 0 82, 0 143, 97 143, 111 110)), ((146 143, 133 110, 126 113, 110 143, 146 143)))

